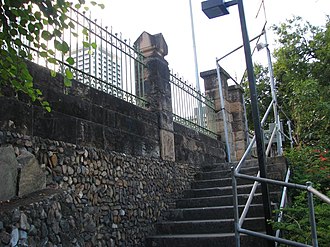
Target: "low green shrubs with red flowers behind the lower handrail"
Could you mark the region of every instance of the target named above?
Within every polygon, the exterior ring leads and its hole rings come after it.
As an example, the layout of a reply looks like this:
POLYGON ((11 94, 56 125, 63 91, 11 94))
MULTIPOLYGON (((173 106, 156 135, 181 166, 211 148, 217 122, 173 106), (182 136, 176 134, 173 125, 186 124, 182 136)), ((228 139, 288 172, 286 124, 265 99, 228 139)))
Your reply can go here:
MULTIPOLYGON (((326 147, 298 147, 286 153, 291 163, 293 183, 313 181, 313 187, 330 196, 330 152, 326 147)), ((309 211, 306 191, 290 191, 292 202, 284 210, 284 222, 274 223, 285 238, 311 244, 309 211)), ((330 243, 330 205, 314 197, 319 246, 330 243)))

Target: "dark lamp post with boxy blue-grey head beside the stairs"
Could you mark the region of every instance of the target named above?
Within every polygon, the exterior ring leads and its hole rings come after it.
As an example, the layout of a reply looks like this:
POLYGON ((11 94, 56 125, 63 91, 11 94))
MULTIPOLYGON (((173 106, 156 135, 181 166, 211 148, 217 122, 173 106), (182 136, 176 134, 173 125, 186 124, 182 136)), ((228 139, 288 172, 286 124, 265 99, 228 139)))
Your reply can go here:
MULTIPOLYGON (((244 45, 245 61, 248 72, 251 105, 252 105, 252 117, 253 117, 254 131, 255 131, 256 143, 257 143, 257 154, 258 154, 260 176, 266 178, 266 154, 265 154, 265 146, 264 146, 264 137, 260 123, 256 81, 253 71, 251 48, 247 33, 243 1, 234 0, 234 1, 224 2, 223 0, 208 0, 202 2, 202 10, 209 19, 212 19, 215 17, 229 14, 227 8, 236 4, 238 6, 243 45, 244 45)), ((269 190, 267 184, 261 183, 261 190, 262 190, 262 200, 263 200, 263 207, 265 213, 266 233, 268 235, 273 235, 272 227, 268 224, 268 220, 271 220, 271 206, 270 206, 269 190)), ((269 242, 269 246, 274 246, 274 243, 269 242)))

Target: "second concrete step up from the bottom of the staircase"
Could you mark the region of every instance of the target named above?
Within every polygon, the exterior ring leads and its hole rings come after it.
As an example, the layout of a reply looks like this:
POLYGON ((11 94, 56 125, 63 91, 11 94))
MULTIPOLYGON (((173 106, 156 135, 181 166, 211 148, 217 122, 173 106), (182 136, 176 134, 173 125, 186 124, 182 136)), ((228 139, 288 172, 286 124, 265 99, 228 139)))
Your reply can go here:
MULTIPOLYGON (((264 218, 247 218, 244 228, 253 231, 263 231, 264 218)), ((193 221, 165 221, 156 224, 157 234, 206 234, 206 233, 233 233, 234 220, 193 220, 193 221)))

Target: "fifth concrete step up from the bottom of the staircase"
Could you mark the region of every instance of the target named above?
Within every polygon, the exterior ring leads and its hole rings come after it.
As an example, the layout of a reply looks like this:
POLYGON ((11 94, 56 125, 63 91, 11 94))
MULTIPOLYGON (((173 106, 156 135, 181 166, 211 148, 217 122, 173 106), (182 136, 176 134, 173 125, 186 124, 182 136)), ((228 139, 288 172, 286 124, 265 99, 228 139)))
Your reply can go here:
MULTIPOLYGON (((248 194, 251 192, 252 184, 238 185, 237 190, 239 194, 248 194)), ((257 191, 260 191, 260 185, 257 191)), ((196 197, 210 197, 210 196, 223 196, 232 195, 232 186, 215 187, 215 188, 203 188, 203 189, 190 189, 183 192, 184 198, 196 198, 196 197)))

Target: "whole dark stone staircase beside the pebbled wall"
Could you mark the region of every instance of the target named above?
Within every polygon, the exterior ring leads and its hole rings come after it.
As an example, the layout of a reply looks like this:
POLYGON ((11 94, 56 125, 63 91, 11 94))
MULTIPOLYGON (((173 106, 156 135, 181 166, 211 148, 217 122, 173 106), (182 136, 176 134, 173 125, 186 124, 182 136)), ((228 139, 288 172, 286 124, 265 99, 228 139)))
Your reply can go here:
MULTIPOLYGON (((267 167, 270 173, 277 171, 275 165, 272 166, 267 167)), ((254 176, 257 172, 256 161, 247 161, 241 170, 241 173, 254 176)), ((165 213, 165 220, 155 225, 156 233, 147 237, 146 246, 235 246, 231 183, 230 164, 203 167, 203 171, 197 174, 192 182, 191 189, 184 191, 183 198, 176 201, 176 207, 165 213)), ((241 212, 251 191, 252 182, 238 180, 237 183, 241 212)), ((264 232, 260 191, 258 188, 243 227, 264 232)), ((278 192, 272 193, 273 198, 278 196, 278 192)), ((262 247, 267 244, 263 239, 241 235, 241 246, 262 247)))

